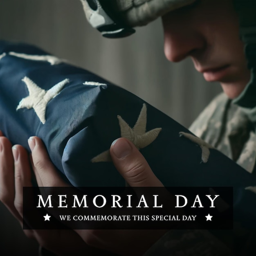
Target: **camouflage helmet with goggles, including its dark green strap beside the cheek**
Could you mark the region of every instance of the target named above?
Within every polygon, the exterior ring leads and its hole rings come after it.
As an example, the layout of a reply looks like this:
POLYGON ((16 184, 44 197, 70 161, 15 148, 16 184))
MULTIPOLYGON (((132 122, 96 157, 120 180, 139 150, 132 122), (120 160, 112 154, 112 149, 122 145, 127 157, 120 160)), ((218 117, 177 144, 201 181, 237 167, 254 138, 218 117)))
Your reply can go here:
MULTIPOLYGON (((164 14, 208 0, 81 0, 85 15, 108 38, 129 36, 133 27, 143 26, 164 14)), ((251 80, 234 103, 256 107, 256 0, 233 0, 240 20, 240 38, 245 45, 251 80)), ((220 6, 221 8, 221 6, 220 6)), ((256 120, 255 120, 256 121, 256 120)))

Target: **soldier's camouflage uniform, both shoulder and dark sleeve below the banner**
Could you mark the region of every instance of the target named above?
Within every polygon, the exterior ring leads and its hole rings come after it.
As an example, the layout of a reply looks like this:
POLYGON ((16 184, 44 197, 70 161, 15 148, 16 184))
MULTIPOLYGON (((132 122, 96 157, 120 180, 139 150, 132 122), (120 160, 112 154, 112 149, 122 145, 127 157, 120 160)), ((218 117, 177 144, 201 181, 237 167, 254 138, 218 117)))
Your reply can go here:
MULTIPOLYGON (((222 93, 216 97, 191 125, 190 130, 248 172, 255 172, 256 109, 247 110, 232 103, 222 93)), ((171 230, 151 247, 145 256, 222 256, 251 255, 256 231, 241 229, 234 223, 232 231, 171 230)))

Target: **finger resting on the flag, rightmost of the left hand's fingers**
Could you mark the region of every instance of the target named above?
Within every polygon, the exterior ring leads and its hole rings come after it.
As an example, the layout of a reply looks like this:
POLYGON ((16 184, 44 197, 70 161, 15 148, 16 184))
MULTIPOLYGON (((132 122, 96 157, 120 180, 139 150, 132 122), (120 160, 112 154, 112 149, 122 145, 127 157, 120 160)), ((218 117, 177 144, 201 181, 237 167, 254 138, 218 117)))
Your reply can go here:
POLYGON ((31 165, 36 175, 38 186, 68 186, 58 175, 43 141, 38 137, 30 137, 28 144, 32 154, 31 165))

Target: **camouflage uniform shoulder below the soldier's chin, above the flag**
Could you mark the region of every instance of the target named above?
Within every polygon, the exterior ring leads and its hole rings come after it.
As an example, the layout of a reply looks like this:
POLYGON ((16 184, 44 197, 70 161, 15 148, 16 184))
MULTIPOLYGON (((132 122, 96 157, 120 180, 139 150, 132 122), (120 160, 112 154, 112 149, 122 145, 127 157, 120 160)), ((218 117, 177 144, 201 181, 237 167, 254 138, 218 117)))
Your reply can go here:
POLYGON ((190 130, 252 173, 256 159, 253 110, 249 112, 233 104, 222 93, 201 113, 190 130))

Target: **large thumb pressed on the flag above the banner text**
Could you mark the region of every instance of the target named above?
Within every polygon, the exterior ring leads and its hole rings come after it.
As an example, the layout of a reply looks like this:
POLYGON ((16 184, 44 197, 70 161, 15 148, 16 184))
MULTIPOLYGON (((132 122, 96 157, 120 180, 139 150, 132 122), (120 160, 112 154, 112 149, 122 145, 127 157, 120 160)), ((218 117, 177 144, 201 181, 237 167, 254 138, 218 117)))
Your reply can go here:
POLYGON ((163 186, 146 159, 128 139, 119 138, 113 141, 110 155, 117 171, 130 186, 163 186))

